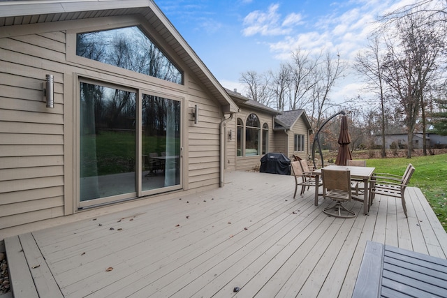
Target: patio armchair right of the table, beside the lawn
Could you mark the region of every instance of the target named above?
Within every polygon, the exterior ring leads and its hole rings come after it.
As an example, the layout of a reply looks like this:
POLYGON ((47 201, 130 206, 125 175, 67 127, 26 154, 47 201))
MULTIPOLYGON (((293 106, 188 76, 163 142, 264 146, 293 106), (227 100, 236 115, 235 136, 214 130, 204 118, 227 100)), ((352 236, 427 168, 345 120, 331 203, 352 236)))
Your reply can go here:
POLYGON ((402 177, 399 175, 386 173, 374 174, 371 178, 371 182, 369 183, 369 202, 373 202, 376 194, 400 198, 405 217, 408 217, 406 214, 405 190, 406 186, 409 184, 411 176, 413 176, 414 171, 415 168, 411 165, 411 163, 409 163, 402 177))

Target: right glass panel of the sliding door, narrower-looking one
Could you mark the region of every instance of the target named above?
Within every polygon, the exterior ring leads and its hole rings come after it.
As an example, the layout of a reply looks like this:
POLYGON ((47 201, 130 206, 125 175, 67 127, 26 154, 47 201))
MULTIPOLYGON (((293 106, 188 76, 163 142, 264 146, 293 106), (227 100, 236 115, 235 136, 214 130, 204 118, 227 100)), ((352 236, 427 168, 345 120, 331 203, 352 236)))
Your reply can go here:
POLYGON ((180 102, 142 94, 141 109, 141 190, 179 186, 180 102))

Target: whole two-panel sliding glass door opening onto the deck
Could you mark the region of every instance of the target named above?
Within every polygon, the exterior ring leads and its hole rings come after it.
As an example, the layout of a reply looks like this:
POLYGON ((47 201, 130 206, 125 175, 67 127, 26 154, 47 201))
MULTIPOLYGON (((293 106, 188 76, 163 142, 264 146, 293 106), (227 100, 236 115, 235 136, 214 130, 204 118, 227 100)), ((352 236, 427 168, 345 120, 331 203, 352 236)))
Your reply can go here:
POLYGON ((181 188, 181 102, 87 80, 79 86, 79 207, 181 188))

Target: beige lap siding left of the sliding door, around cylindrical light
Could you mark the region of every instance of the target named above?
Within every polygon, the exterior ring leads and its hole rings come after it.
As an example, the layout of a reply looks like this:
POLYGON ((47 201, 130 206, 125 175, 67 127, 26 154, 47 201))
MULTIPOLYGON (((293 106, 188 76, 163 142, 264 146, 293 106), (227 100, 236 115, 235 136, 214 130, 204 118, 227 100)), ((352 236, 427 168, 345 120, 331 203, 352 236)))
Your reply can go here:
POLYGON ((57 66, 64 40, 61 31, 0 38, 0 228, 64 215, 63 77, 57 66), (43 102, 47 73, 54 75, 54 109, 43 102))

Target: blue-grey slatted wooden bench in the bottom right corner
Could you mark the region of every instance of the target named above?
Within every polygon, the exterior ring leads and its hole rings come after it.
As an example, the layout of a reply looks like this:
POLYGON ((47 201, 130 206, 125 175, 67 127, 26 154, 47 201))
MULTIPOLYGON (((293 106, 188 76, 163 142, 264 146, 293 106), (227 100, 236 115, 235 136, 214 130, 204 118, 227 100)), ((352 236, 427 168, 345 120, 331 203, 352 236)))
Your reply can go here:
POLYGON ((447 297, 447 260, 367 241, 352 297, 447 297))

